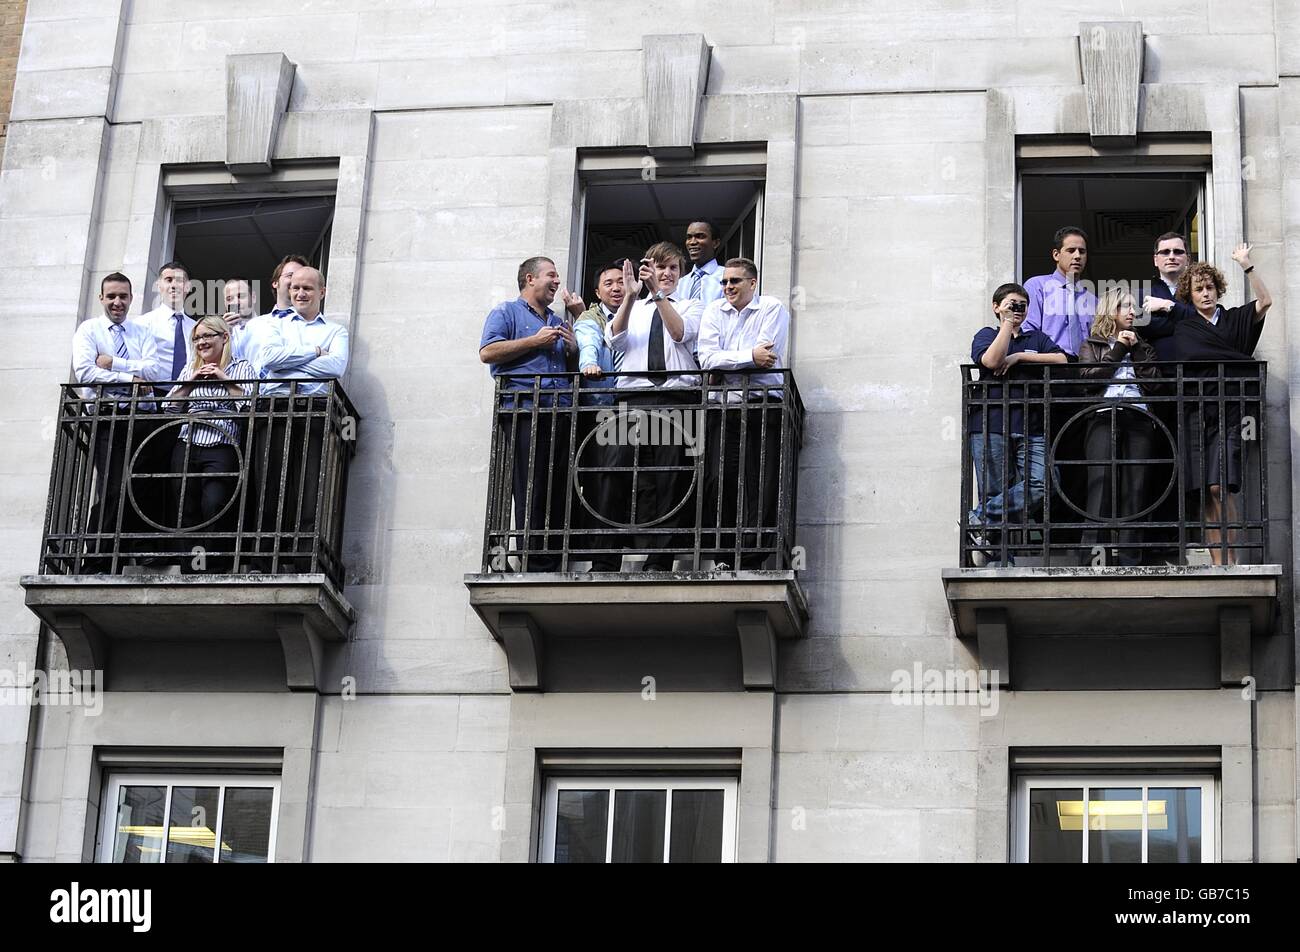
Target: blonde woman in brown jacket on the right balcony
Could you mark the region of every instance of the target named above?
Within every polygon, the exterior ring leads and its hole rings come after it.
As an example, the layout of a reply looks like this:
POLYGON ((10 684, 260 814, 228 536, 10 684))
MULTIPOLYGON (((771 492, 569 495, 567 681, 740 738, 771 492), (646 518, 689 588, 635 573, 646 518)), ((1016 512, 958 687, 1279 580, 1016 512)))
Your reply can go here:
MULTIPOLYGON (((1148 503, 1148 475, 1154 420, 1141 402, 1152 393, 1160 368, 1153 365, 1156 349, 1134 333, 1134 299, 1122 290, 1108 290, 1097 302, 1088 339, 1079 347, 1079 376, 1097 381, 1102 406, 1087 417, 1084 454, 1088 466, 1088 518, 1101 522, 1131 519, 1148 503)), ((1122 525, 1123 523, 1121 523, 1122 525)), ((1106 564, 1104 529, 1083 533, 1084 564, 1106 564)), ((1110 532, 1105 532, 1109 537, 1110 532)), ((1132 528, 1119 529, 1118 564, 1143 562, 1141 537, 1132 528)))

